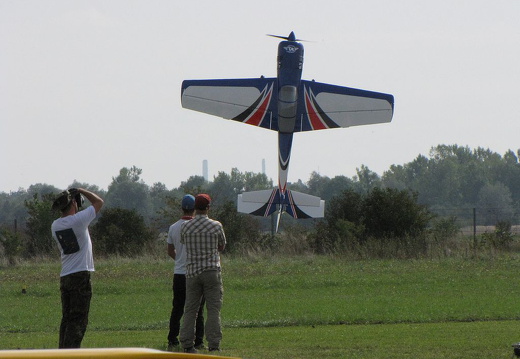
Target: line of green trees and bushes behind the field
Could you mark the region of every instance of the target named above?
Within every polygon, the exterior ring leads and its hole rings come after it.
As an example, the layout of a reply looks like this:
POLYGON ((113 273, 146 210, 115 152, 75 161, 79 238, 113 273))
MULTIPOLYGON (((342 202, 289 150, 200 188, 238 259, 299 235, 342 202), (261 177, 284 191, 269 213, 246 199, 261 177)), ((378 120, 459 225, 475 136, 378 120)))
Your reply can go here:
MULTIPOLYGON (((444 229, 453 226, 455 219, 445 215, 446 208, 478 208, 482 224, 518 224, 519 157, 520 151, 509 150, 502 156, 480 147, 439 145, 428 157, 419 155, 404 165, 392 165, 381 176, 364 165, 352 178, 313 172, 307 182, 298 180, 290 188, 327 201, 325 218, 292 221, 286 217, 283 222, 292 232, 296 226, 303 228, 309 250, 316 252, 352 248, 372 238, 405 242, 414 238, 417 244, 435 220, 437 224, 443 220, 444 229)), ((135 166, 122 168, 107 190, 77 181, 70 185, 105 199, 92 231, 100 252, 138 254, 180 216, 179 201, 185 193, 201 192, 213 198, 212 216, 225 225, 230 251, 265 249, 279 241, 269 231, 270 219, 236 212, 239 193, 273 187, 265 174, 234 168, 219 172, 212 181, 191 176, 170 190, 160 182, 147 185, 141 174, 135 166)), ((56 214, 50 211, 50 203, 61 190, 34 184, 27 190, 0 193, 0 254, 2 249, 4 254, 27 256, 51 251, 49 228, 56 214)))

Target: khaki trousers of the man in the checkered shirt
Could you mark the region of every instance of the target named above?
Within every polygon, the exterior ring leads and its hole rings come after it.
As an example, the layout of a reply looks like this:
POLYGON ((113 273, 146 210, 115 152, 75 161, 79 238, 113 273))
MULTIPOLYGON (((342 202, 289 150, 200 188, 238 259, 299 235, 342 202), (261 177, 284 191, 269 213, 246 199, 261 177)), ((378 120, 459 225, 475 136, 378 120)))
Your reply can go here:
POLYGON ((195 321, 200 301, 206 299, 206 340, 209 348, 219 348, 222 340, 220 309, 222 308, 223 287, 220 270, 207 270, 186 278, 186 304, 181 327, 180 341, 183 348, 191 348, 195 342, 195 321))

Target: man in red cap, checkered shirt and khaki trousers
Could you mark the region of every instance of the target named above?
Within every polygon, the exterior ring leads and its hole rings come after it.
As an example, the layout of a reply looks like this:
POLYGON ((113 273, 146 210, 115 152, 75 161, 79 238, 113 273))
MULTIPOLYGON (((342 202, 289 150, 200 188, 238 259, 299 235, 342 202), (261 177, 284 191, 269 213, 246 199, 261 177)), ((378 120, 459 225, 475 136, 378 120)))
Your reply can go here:
POLYGON ((206 299, 206 339, 209 351, 220 351, 222 329, 220 309, 223 287, 220 252, 226 246, 224 228, 208 217, 211 198, 195 197, 195 218, 181 227, 181 243, 186 248, 186 304, 180 340, 186 353, 196 353, 195 321, 202 297, 206 299))

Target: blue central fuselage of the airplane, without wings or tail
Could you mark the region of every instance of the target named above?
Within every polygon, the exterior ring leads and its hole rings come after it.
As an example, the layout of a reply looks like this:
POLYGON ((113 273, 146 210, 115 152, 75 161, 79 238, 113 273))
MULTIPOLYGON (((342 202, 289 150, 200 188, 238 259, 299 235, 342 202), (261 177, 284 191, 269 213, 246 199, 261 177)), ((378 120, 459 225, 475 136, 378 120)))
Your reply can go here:
POLYGON ((298 88, 303 71, 303 45, 282 41, 278 45, 278 188, 287 189, 287 174, 298 110, 298 88))

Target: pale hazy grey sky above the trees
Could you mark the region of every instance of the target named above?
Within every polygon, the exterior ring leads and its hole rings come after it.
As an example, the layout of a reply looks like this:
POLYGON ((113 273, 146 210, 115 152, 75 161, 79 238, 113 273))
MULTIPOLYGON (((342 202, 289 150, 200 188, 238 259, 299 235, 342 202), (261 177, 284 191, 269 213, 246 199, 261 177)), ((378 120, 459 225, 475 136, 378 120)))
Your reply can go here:
POLYGON ((277 182, 277 134, 180 103, 185 79, 276 76, 278 39, 307 40, 303 79, 390 93, 391 123, 297 133, 289 182, 382 175, 440 144, 520 148, 520 0, 0 0, 0 192, 107 189, 219 171, 277 182))

